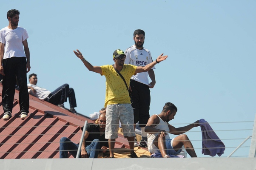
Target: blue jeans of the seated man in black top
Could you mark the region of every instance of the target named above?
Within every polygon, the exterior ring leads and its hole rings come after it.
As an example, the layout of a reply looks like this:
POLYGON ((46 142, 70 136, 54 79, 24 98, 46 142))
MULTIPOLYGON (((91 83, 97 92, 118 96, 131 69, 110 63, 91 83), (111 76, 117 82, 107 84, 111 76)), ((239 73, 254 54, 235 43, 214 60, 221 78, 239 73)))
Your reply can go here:
MULTIPOLYGON (((94 139, 90 145, 86 146, 86 152, 88 153, 89 158, 98 158, 100 150, 100 140, 94 139)), ((60 158, 68 158, 68 152, 71 153, 74 158, 77 156, 79 144, 71 142, 67 137, 62 137, 60 139, 60 158)), ((79 156, 81 158, 81 154, 79 156)))

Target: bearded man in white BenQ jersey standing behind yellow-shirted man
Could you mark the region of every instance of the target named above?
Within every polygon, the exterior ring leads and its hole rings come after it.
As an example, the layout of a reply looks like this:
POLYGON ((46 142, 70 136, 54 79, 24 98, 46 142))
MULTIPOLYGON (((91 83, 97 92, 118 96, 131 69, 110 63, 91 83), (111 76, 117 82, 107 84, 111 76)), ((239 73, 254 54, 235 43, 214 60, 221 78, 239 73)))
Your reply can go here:
MULTIPOLYGON (((145 40, 145 32, 137 29, 134 31, 134 45, 127 48, 125 51, 126 59, 125 64, 131 64, 136 66, 145 67, 153 62, 151 53, 148 49, 143 47, 145 40)), ((139 121, 139 127, 141 127, 142 140, 139 143, 140 147, 147 146, 147 133, 145 133, 145 125, 149 119, 149 105, 150 105, 150 90, 154 88, 156 84, 154 70, 151 68, 147 72, 138 73, 131 77, 130 93, 131 93, 131 105, 134 108, 134 124, 139 121), (148 83, 148 75, 151 82, 148 83)), ((137 142, 135 142, 135 145, 137 142)))

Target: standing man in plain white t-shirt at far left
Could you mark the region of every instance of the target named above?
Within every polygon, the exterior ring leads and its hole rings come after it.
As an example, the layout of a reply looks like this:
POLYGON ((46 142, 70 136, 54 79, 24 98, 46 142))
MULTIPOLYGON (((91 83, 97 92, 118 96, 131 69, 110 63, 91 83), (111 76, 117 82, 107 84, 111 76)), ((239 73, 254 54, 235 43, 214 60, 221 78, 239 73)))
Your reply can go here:
POLYGON ((0 74, 3 75, 3 120, 11 117, 15 93, 16 77, 20 87, 20 118, 28 116, 29 97, 27 90, 27 72, 30 70, 28 33, 18 26, 20 11, 7 12, 9 25, 0 30, 0 74), (23 49, 24 47, 24 49, 23 49))

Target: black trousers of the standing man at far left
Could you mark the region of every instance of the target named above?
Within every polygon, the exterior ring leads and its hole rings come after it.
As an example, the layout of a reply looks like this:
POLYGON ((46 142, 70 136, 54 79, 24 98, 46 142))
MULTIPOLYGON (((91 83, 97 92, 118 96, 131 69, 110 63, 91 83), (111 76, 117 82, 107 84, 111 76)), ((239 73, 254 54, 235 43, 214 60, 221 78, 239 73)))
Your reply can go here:
POLYGON ((17 82, 20 87, 20 112, 25 111, 28 113, 29 96, 26 64, 26 57, 11 57, 9 59, 3 59, 3 71, 5 76, 3 77, 2 102, 4 112, 12 112, 17 77, 17 82))

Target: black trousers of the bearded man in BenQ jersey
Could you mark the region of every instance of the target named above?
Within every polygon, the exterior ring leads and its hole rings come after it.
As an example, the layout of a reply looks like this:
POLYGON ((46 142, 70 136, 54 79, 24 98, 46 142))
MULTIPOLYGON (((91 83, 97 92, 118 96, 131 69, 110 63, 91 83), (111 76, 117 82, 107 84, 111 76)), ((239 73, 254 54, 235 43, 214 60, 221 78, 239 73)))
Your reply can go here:
POLYGON ((145 127, 149 119, 150 90, 147 85, 131 80, 131 106, 134 108, 134 123, 139 121, 139 127, 145 127))

